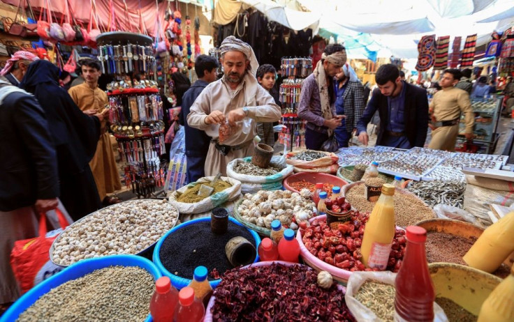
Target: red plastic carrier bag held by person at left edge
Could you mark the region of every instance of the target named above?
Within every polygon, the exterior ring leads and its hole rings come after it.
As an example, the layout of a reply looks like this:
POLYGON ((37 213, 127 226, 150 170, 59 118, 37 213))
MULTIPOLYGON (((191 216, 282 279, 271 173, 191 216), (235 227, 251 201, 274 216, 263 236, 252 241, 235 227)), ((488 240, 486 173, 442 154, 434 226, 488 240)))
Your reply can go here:
POLYGON ((22 293, 29 291, 34 285, 58 273, 63 268, 50 261, 50 247, 55 238, 68 227, 68 220, 61 210, 55 210, 61 229, 47 232, 47 215, 41 213, 39 220, 39 236, 25 240, 17 240, 10 253, 10 266, 13 268, 16 280, 22 293))

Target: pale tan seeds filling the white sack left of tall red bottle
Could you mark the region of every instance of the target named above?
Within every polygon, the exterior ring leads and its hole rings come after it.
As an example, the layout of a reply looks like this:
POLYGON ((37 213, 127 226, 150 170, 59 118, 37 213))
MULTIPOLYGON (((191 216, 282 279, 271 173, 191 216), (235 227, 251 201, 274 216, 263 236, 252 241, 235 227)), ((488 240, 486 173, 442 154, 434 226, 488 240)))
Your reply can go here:
POLYGON ((393 321, 395 316, 395 286, 382 282, 366 281, 359 288, 355 300, 371 309, 383 321, 393 321))

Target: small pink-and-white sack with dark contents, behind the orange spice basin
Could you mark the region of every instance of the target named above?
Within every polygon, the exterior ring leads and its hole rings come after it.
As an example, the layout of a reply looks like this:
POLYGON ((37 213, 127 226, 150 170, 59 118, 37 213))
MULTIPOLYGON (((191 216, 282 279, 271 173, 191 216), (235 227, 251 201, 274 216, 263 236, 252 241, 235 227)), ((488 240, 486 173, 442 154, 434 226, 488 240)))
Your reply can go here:
POLYGON ((293 167, 295 167, 295 172, 308 171, 335 173, 339 168, 337 166, 337 161, 339 161, 339 156, 337 156, 337 154, 325 151, 295 151, 286 155, 287 164, 291 164, 293 167), (321 156, 321 158, 317 158, 318 156, 321 156))

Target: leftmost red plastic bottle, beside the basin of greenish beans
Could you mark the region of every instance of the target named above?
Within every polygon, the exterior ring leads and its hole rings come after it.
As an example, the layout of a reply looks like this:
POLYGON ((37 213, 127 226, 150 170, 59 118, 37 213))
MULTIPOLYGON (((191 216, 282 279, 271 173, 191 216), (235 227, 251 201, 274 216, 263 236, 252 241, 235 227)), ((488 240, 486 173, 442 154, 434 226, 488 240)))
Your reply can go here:
POLYGON ((155 282, 155 291, 150 301, 150 314, 155 322, 169 322, 175 314, 179 302, 179 292, 171 286, 170 277, 159 277, 155 282))

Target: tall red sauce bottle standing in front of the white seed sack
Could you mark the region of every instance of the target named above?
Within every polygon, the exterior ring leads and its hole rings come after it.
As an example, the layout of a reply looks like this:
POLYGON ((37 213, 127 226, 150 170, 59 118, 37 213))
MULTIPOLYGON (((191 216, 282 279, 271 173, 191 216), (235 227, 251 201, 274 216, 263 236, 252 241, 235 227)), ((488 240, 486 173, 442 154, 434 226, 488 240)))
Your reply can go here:
POLYGON ((428 271, 422 227, 406 229, 407 247, 396 276, 395 321, 434 321, 434 283, 428 271))

